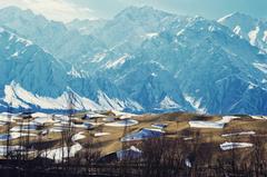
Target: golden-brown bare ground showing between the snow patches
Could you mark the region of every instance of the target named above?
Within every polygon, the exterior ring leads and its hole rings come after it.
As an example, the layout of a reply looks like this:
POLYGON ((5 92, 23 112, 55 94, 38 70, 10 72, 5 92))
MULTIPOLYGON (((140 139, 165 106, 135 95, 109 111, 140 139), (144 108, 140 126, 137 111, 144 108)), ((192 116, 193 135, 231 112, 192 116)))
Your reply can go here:
MULTIPOLYGON (((81 118, 85 112, 77 114, 75 117, 81 118)), ((108 112, 109 116, 115 117, 111 112, 108 112)), ((142 128, 149 128, 152 124, 167 124, 168 127, 165 129, 167 137, 192 137, 197 132, 199 132, 199 139, 202 142, 214 144, 218 146, 224 141, 249 141, 249 136, 243 137, 231 137, 226 138, 221 137, 221 134, 228 132, 238 132, 238 131, 256 131, 257 135, 267 136, 267 121, 266 120, 255 120, 249 118, 248 116, 243 116, 241 119, 235 119, 230 124, 228 124, 224 129, 196 129, 190 128, 188 121, 190 120, 207 120, 207 121, 217 121, 221 119, 220 116, 204 116, 197 114, 187 114, 187 112, 172 112, 172 114, 162 114, 162 115, 141 115, 136 116, 134 119, 138 120, 139 124, 128 128, 117 128, 117 127, 107 127, 107 126, 98 126, 92 130, 85 129, 75 129, 73 134, 79 131, 83 131, 86 135, 86 139, 79 140, 79 142, 86 148, 98 149, 101 151, 101 155, 107 155, 117 150, 120 150, 122 144, 120 142, 120 138, 123 137, 125 134, 136 132, 142 128), (96 132, 110 132, 108 136, 95 137, 96 132), (90 141, 90 144, 89 144, 90 141)), ((82 122, 85 120, 76 120, 82 122)), ((96 119, 97 122, 101 122, 101 119, 96 119)), ((13 126, 13 125, 12 125, 13 126)), ((48 126, 46 128, 51 128, 48 126)), ((4 127, 0 128, 0 132, 4 132, 4 127)), ((36 134, 39 134, 37 131, 36 134)), ((61 132, 51 132, 47 136, 41 136, 41 138, 30 138, 31 142, 38 142, 41 140, 43 144, 51 144, 52 147, 56 148, 59 146, 59 141, 61 138, 61 132), (58 142, 57 142, 58 141, 58 142), (56 144, 55 144, 56 142, 56 144)), ((18 145, 19 139, 12 140, 12 145, 18 145)), ((0 144, 4 145, 4 142, 0 144)), ((218 148, 219 149, 219 148, 218 148)))

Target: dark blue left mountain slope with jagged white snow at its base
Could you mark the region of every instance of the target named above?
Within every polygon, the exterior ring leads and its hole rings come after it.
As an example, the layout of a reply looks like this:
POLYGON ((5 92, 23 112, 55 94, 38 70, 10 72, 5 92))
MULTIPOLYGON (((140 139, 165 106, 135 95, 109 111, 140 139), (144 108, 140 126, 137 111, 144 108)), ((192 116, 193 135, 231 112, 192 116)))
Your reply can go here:
POLYGON ((107 79, 73 75, 73 68, 53 58, 33 42, 0 28, 0 98, 2 108, 69 108, 141 110, 107 79), (71 72, 72 71, 72 72, 71 72), (107 91, 108 90, 108 91, 107 91), (107 94, 106 94, 107 92, 107 94))

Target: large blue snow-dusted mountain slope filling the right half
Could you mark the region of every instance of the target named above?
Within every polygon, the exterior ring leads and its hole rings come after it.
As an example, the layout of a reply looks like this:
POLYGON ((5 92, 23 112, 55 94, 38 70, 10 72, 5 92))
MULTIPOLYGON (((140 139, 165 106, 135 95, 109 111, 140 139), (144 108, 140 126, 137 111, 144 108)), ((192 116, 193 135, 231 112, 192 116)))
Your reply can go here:
MULTIPOLYGON (((105 58, 113 65, 107 67, 103 61, 98 70, 107 72, 107 78, 117 78, 117 86, 146 108, 157 108, 168 92, 171 98, 185 97, 198 111, 266 114, 267 57, 215 21, 200 17, 185 21, 182 26, 165 26, 123 60, 110 62, 112 57, 106 53, 105 58), (164 71, 157 73, 152 63, 164 71), (158 83, 154 83, 152 76, 159 76, 158 83)), ((123 47, 126 51, 121 53, 128 52, 123 47)))

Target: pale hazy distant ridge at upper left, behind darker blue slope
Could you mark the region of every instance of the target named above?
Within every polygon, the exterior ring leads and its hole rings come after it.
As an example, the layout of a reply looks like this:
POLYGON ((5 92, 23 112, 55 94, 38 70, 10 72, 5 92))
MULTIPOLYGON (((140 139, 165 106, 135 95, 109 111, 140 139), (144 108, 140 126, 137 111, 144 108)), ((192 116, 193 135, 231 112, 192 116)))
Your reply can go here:
POLYGON ((47 20, 30 10, 16 7, 0 10, 0 24, 68 62, 82 62, 83 57, 105 48, 105 45, 92 36, 68 30, 61 22, 47 20))

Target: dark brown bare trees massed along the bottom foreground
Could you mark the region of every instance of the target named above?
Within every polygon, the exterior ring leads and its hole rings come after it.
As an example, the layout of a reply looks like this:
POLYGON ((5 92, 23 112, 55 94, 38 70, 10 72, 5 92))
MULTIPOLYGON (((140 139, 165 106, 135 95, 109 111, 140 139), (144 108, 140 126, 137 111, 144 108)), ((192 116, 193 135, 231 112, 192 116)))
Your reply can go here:
MULTIPOLYGON (((199 134, 188 141, 177 137, 161 137, 135 142, 142 151, 141 156, 123 156, 123 159, 111 161, 100 161, 100 150, 96 150, 90 140, 76 157, 67 158, 61 164, 51 160, 39 168, 55 176, 265 177, 266 140, 266 137, 251 136, 253 148, 222 151, 218 145, 202 142, 199 134)), ((20 160, 19 157, 17 159, 20 160)))

